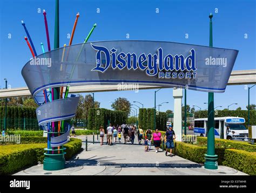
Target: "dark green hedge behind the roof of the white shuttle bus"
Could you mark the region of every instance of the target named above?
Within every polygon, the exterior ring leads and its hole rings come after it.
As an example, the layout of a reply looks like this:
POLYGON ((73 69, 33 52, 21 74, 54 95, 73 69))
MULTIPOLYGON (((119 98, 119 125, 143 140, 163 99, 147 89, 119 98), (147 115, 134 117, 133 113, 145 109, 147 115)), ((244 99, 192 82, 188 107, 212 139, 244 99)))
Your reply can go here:
MULTIPOLYGON (((194 118, 207 118, 207 111, 196 111, 194 113, 194 118)), ((245 127, 247 128, 248 123, 248 111, 245 110, 235 110, 235 111, 226 111, 226 110, 218 110, 218 115, 214 115, 214 117, 224 117, 224 116, 239 116, 240 118, 245 118, 245 127)), ((250 125, 256 125, 256 111, 250 111, 250 125)))

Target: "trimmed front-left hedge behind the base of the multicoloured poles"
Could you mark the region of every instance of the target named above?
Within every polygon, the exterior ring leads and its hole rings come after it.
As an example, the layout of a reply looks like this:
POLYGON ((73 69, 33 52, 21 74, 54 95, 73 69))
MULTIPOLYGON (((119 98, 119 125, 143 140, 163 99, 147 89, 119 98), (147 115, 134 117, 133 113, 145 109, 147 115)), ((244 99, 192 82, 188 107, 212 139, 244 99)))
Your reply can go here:
MULTIPOLYGON (((43 162, 44 148, 46 143, 35 144, 16 144, 0 147, 0 175, 12 174, 24 167, 29 167, 43 162)), ((71 158, 77 154, 82 147, 82 140, 71 139, 65 144, 66 148, 65 159, 71 158)))

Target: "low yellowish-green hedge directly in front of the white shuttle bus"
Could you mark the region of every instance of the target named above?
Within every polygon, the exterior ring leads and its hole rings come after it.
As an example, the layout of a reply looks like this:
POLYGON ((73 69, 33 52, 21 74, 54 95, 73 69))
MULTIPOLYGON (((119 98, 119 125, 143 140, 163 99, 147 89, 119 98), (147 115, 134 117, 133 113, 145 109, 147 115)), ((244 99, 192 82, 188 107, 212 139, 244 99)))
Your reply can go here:
MULTIPOLYGON (((207 146, 207 137, 197 137, 197 144, 199 146, 207 146)), ((240 149, 245 151, 256 151, 256 144, 251 144, 245 141, 233 141, 233 140, 224 140, 224 139, 215 139, 216 148, 232 148, 240 149)))

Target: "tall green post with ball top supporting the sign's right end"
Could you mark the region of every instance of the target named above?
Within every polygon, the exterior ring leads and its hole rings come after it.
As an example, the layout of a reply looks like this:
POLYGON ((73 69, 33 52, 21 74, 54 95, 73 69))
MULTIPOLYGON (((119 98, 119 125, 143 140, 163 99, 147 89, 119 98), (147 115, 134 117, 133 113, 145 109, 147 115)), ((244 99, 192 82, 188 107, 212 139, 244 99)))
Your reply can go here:
MULTIPOLYGON (((210 43, 212 47, 212 13, 210 14, 210 43)), ((214 74, 209 73, 209 79, 213 78, 214 74)), ((213 79, 212 79, 213 80, 213 79)), ((215 155, 215 136, 214 136, 214 94, 208 93, 208 122, 207 122, 207 153, 205 154, 206 169, 218 169, 218 155, 215 155)))

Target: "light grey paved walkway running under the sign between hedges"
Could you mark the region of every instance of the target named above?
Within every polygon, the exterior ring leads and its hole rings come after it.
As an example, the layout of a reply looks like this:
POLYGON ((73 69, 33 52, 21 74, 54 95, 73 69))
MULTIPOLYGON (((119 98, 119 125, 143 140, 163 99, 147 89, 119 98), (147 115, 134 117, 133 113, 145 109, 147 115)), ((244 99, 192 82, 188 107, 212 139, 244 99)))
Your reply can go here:
POLYGON ((14 175, 246 175, 226 166, 208 170, 202 164, 179 156, 165 156, 161 149, 156 153, 154 147, 145 152, 144 146, 138 145, 137 139, 133 145, 122 141, 113 143, 112 146, 107 146, 106 143, 100 146, 97 135, 95 144, 92 144, 92 135, 89 135, 88 151, 85 151, 85 136, 77 138, 83 140, 84 150, 66 161, 65 169, 46 171, 41 164, 14 175))

